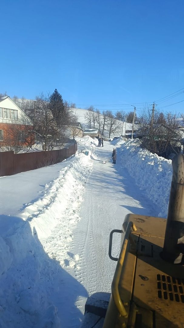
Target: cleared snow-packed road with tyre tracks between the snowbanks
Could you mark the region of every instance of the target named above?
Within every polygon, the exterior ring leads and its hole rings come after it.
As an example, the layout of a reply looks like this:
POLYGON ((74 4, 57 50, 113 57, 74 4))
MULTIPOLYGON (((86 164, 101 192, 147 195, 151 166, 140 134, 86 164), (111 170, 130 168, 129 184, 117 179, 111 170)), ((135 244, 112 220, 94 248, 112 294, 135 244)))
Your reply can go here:
MULTIPOLYGON (((121 229, 128 213, 157 215, 156 206, 146 199, 126 169, 120 164, 120 150, 117 162, 102 162, 108 159, 113 144, 104 142, 104 147, 96 150, 92 172, 83 193, 80 211, 81 220, 77 224, 71 243, 72 254, 79 254, 78 268, 69 269, 70 275, 83 285, 89 295, 96 292, 110 292, 116 262, 108 257, 109 234, 113 229, 121 229)), ((114 238, 114 255, 120 250, 120 239, 114 238)), ((76 306, 82 312, 86 298, 79 297, 76 306)), ((78 320, 73 325, 78 327, 78 320)), ((76 318, 77 319, 77 318, 76 318)), ((69 319, 70 321, 70 319, 69 319)), ((72 325, 72 324, 71 324, 72 325)), ((68 322, 68 327, 70 322, 68 322)))

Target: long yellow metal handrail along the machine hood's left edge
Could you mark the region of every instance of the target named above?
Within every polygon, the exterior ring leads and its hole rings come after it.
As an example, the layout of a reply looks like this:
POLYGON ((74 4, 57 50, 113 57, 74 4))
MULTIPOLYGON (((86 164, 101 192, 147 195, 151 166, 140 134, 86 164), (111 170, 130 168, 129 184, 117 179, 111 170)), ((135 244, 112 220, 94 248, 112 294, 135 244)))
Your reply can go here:
POLYGON ((112 285, 111 285, 112 297, 114 299, 116 307, 117 307, 119 313, 125 318, 127 318, 128 314, 121 301, 118 285, 119 285, 119 281, 120 281, 122 266, 123 266, 124 259, 125 259, 125 254, 127 252, 127 246, 128 246, 129 235, 131 233, 131 228, 133 228, 133 230, 136 230, 134 223, 130 221, 130 222, 128 222, 127 227, 126 227, 126 231, 124 234, 124 240, 123 240, 121 251, 120 251, 120 256, 119 256, 119 259, 117 262, 114 278, 113 278, 112 285))

